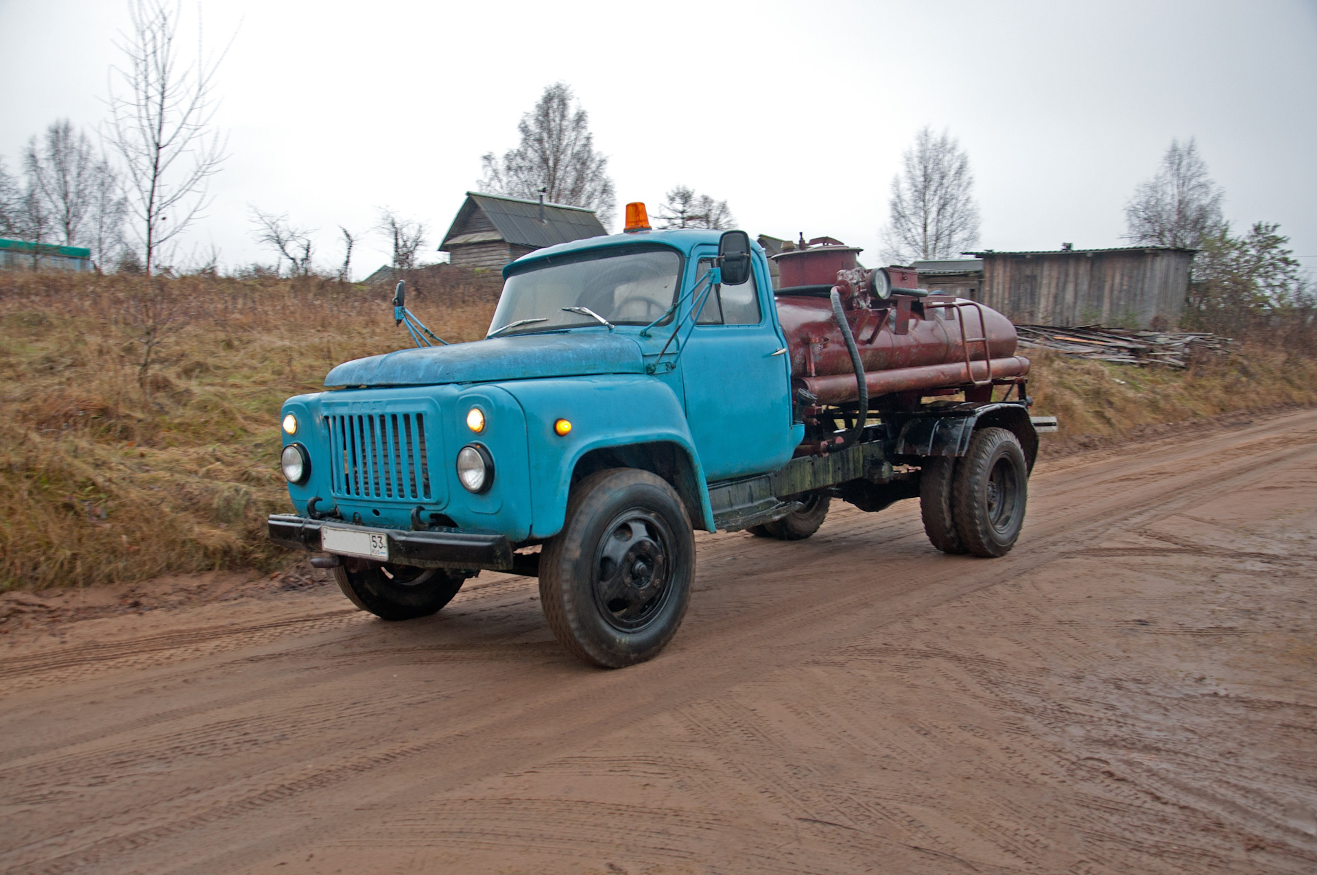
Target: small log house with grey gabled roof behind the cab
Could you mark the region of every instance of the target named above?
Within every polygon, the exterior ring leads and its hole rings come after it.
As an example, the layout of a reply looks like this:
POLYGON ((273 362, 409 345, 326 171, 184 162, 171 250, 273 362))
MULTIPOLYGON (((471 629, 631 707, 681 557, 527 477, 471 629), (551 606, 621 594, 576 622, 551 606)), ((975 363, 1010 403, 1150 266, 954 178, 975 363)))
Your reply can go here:
POLYGON ((439 251, 460 267, 502 270, 536 249, 607 233, 593 209, 469 191, 439 251))

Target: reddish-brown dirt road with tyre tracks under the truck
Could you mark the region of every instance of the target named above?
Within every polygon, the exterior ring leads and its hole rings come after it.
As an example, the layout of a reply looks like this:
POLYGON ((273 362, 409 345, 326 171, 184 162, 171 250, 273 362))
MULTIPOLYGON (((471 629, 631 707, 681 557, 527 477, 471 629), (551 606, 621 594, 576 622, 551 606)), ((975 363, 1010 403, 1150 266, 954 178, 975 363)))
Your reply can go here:
POLYGON ((1192 437, 1040 464, 1004 559, 701 537, 624 671, 489 572, 16 632, 0 870, 1317 871, 1317 412, 1192 437))

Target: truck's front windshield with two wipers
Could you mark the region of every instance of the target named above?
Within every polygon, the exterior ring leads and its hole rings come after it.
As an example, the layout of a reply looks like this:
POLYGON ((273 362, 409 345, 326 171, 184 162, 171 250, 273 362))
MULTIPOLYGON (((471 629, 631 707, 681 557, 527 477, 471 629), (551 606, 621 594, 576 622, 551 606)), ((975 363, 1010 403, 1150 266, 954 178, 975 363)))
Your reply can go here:
POLYGON ((615 255, 585 253, 577 261, 508 276, 490 332, 518 320, 544 321, 512 328, 502 337, 599 324, 589 316, 564 312, 564 307, 591 309, 614 325, 648 325, 672 307, 680 276, 681 255, 670 249, 615 255))

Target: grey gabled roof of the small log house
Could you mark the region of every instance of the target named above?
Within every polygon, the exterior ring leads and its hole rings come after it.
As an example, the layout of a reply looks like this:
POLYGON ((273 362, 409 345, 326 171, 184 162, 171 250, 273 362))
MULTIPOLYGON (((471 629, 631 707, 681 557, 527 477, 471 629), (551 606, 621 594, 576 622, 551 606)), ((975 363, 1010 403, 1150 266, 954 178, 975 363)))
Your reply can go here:
POLYGON ((593 209, 469 191, 439 249, 499 239, 540 249, 607 233, 593 209))

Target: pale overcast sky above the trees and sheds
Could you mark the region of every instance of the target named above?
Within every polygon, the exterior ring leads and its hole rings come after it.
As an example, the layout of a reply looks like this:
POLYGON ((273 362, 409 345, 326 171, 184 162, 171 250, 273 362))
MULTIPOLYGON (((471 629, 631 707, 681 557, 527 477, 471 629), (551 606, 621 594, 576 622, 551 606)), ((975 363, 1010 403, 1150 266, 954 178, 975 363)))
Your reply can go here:
MULTIPOLYGON (((901 151, 922 125, 968 151, 997 250, 1119 246, 1123 205, 1196 137, 1237 230, 1281 224, 1317 267, 1317 0, 1192 3, 444 3, 205 0, 232 39, 229 159, 188 247, 273 262, 250 205, 365 232, 378 207, 437 246, 479 157, 565 82, 618 207, 686 184, 752 234, 828 234, 876 262, 901 151)), ((0 154, 58 117, 95 130, 126 26, 116 0, 0 0, 0 154)), ((195 32, 192 32, 195 34, 195 32)), ((358 278, 387 261, 382 238, 358 278)))

